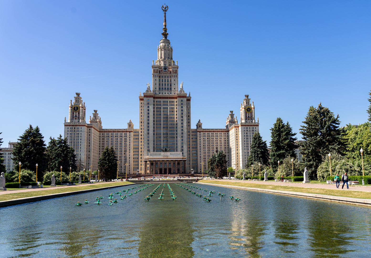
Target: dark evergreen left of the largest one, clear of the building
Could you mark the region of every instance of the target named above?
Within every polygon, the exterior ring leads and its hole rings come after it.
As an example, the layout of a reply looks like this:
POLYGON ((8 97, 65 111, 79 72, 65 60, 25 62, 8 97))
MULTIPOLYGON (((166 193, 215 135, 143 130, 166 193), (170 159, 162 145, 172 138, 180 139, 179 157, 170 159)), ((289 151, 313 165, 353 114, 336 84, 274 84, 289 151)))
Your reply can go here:
POLYGON ((270 166, 274 171, 278 169, 278 161, 282 162, 286 157, 295 157, 296 133, 292 132, 289 122, 283 123, 279 117, 273 127, 270 128, 272 140, 270 141, 270 166))

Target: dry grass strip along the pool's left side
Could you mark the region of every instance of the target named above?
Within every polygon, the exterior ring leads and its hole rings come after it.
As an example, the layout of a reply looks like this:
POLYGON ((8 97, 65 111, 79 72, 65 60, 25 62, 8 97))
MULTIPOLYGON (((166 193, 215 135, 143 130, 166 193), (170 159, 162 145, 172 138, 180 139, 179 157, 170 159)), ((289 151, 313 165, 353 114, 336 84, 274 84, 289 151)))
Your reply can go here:
POLYGON ((23 193, 7 193, 4 195, 0 195, 0 201, 6 200, 13 200, 25 197, 32 197, 32 196, 43 196, 43 195, 51 195, 53 193, 65 193, 65 192, 75 192, 81 191, 86 189, 96 189, 102 187, 109 187, 109 186, 124 186, 125 184, 132 184, 131 182, 115 182, 115 183, 106 183, 106 184, 93 184, 93 185, 86 185, 86 186, 75 186, 75 187, 65 187, 65 188, 54 188, 42 191, 31 191, 31 192, 23 192, 23 193))

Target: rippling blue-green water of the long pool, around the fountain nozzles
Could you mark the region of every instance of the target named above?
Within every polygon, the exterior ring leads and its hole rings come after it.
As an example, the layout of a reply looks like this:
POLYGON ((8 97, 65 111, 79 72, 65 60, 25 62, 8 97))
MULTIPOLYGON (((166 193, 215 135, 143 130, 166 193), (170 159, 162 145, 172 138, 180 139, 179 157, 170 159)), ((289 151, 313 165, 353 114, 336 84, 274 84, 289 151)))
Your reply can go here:
POLYGON ((171 183, 175 200, 144 201, 154 184, 111 206, 129 186, 0 208, 0 257, 371 257, 370 208, 194 185, 226 196, 171 183))

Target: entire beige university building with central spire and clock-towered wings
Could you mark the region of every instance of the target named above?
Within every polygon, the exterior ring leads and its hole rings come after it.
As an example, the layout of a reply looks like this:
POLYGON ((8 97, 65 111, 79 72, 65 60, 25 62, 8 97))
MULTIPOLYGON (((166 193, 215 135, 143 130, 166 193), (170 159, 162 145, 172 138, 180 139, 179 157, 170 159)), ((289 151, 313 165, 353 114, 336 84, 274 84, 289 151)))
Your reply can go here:
POLYGON ((217 151, 227 155, 228 166, 244 168, 254 133, 259 132, 254 102, 245 95, 240 105, 240 123, 233 111, 226 127, 204 129, 198 120, 191 128, 191 96, 178 88, 178 62, 167 39, 167 6, 157 60, 152 61, 152 89, 147 84, 139 94, 138 129, 129 121, 127 128, 104 129, 97 110, 86 123, 86 106, 80 93, 69 104, 64 135, 86 169, 98 170, 98 160, 105 147, 113 147, 119 160, 119 174, 183 174, 207 170, 207 161, 217 151), (125 165, 127 164, 127 165, 125 165))

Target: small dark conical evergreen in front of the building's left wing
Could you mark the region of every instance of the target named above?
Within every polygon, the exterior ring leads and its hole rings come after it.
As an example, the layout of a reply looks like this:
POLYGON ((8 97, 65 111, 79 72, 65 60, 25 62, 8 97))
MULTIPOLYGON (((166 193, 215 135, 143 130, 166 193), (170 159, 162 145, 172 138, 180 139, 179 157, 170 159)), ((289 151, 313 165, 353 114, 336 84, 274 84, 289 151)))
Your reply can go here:
POLYGON ((99 178, 106 180, 115 179, 117 177, 117 157, 114 148, 108 146, 102 151, 98 161, 99 178))

